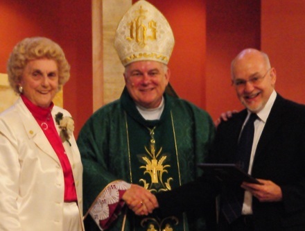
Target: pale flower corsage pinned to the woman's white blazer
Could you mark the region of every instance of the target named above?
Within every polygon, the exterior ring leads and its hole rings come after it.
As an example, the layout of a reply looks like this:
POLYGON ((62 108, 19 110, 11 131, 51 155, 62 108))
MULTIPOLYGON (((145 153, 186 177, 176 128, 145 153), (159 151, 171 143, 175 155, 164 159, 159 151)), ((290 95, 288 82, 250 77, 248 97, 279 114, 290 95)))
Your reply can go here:
POLYGON ((69 139, 71 135, 73 135, 74 130, 73 118, 64 117, 62 112, 58 112, 58 114, 55 114, 55 121, 60 127, 60 138, 62 139, 62 143, 67 141, 70 144, 69 139))

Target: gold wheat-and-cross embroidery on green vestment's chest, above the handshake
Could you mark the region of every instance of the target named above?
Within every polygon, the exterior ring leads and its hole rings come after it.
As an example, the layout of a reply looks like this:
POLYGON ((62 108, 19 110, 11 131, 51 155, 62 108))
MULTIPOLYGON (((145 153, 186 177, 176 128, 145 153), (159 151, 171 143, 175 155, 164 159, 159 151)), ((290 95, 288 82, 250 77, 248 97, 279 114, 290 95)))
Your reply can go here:
POLYGON ((145 162, 145 165, 140 166, 140 169, 145 169, 144 174, 148 173, 150 175, 151 182, 146 182, 145 179, 140 179, 139 182, 143 182, 143 187, 149 191, 166 191, 171 190, 170 182, 173 178, 168 178, 166 182, 163 181, 163 173, 167 173, 167 168, 171 167, 169 164, 165 164, 168 155, 162 154, 162 147, 159 151, 155 150, 155 128, 148 130, 150 131, 150 149, 144 146, 146 154, 140 155, 140 161, 145 162), (153 184, 159 184, 156 189, 153 184))

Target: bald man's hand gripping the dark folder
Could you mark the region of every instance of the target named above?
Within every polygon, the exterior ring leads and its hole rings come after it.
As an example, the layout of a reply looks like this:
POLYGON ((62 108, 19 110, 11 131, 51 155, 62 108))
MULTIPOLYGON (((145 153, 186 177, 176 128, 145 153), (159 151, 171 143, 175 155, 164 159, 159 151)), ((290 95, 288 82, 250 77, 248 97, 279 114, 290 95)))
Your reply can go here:
POLYGON ((258 179, 263 185, 252 184, 249 182, 243 182, 241 187, 259 199, 260 202, 275 202, 281 201, 283 195, 281 194, 281 188, 270 180, 258 179))

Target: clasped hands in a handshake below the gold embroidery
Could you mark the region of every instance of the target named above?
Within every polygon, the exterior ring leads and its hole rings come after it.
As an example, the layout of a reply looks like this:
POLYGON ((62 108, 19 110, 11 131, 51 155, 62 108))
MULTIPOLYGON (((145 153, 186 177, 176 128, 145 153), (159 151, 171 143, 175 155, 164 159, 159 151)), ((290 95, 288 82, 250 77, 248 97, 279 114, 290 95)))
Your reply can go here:
POLYGON ((139 185, 131 185, 123 194, 123 200, 137 215, 148 215, 153 209, 159 207, 157 198, 150 191, 139 185))

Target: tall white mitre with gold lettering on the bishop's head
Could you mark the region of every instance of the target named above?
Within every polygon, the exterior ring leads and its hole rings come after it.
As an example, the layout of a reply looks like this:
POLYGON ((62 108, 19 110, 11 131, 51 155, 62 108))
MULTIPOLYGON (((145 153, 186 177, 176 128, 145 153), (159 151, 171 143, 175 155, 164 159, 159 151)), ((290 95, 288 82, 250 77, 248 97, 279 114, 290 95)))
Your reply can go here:
POLYGON ((124 67, 131 62, 155 60, 168 64, 175 39, 171 26, 155 6, 137 1, 125 13, 114 38, 124 67))

